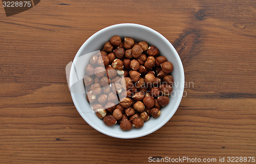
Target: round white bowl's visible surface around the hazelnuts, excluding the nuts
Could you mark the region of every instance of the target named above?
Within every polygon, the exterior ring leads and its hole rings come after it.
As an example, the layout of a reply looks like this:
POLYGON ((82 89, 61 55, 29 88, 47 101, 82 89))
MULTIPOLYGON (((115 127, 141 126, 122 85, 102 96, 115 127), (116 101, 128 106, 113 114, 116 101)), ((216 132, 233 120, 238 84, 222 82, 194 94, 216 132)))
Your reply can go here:
MULTIPOLYGON (((80 75, 77 75, 77 70, 74 71, 74 69, 71 69, 69 83, 74 84, 76 82, 76 86, 78 86, 76 89, 71 89, 71 96, 75 107, 82 118, 99 132, 117 138, 136 138, 145 136, 161 128, 170 120, 170 118, 172 118, 178 109, 184 90, 184 71, 182 62, 173 45, 163 35, 151 28, 137 24, 118 24, 106 27, 96 32, 82 44, 74 60, 84 54, 102 50, 104 43, 109 41, 114 35, 119 35, 122 37, 122 39, 124 37, 131 37, 135 41, 145 40, 149 45, 155 45, 159 49, 160 55, 165 56, 168 61, 173 63, 174 71, 171 73, 171 75, 174 78, 174 86, 169 104, 161 108, 161 115, 159 118, 154 119, 151 117, 150 120, 145 122, 142 128, 133 128, 130 131, 122 131, 119 125, 108 127, 96 116, 95 113, 92 112, 90 104, 86 100, 84 86, 81 80, 81 78, 83 78, 85 75, 84 68, 87 64, 84 62, 76 63, 76 65, 80 66, 79 69, 81 72, 78 73, 80 75)), ((89 59, 86 59, 86 61, 89 62, 89 59)))

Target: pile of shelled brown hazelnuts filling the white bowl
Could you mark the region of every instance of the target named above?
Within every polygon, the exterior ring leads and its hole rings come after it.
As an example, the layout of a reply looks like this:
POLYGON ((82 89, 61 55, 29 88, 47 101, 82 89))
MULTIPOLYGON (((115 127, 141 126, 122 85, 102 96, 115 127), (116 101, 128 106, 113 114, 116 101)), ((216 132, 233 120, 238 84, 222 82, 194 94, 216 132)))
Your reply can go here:
POLYGON ((87 100, 105 125, 141 128, 169 103, 173 64, 146 41, 113 36, 86 66, 87 100))

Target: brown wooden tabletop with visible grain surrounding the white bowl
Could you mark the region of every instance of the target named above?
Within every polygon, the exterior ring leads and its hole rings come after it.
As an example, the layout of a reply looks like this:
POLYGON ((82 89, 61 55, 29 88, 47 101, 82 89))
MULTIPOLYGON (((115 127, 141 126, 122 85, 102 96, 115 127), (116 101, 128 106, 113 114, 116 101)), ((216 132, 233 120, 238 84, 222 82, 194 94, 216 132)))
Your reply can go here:
POLYGON ((9 17, 0 7, 0 163, 147 163, 153 156, 219 163, 256 156, 255 7, 255 1, 63 0, 9 17), (85 40, 124 22, 164 35, 180 55, 185 81, 194 83, 166 125, 126 140, 81 118, 65 73, 85 40))

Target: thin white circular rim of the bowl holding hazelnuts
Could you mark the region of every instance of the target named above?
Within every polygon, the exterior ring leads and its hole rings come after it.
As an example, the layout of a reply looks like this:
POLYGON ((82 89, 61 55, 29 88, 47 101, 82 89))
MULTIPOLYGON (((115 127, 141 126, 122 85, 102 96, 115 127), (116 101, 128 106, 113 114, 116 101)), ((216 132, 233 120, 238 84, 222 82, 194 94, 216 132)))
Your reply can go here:
MULTIPOLYGON (((79 57, 79 54, 81 54, 82 50, 87 46, 87 44, 93 40, 95 37, 97 37, 98 34, 100 33, 104 33, 105 31, 108 31, 109 29, 111 28, 117 28, 117 27, 137 27, 137 28, 144 28, 152 33, 155 33, 156 35, 158 35, 162 40, 164 40, 168 45, 169 45, 169 48, 173 51, 173 53, 178 57, 178 65, 181 69, 181 72, 182 72, 182 75, 181 75, 181 79, 180 79, 180 82, 181 82, 181 86, 179 87, 180 91, 182 94, 178 95, 178 99, 177 101, 175 102, 174 106, 173 106, 173 112, 165 119, 163 120, 163 122, 161 122, 161 124, 158 124, 156 127, 154 127, 153 129, 149 130, 149 131, 146 131, 146 132, 143 132, 143 133, 138 133, 134 136, 123 136, 123 135, 118 135, 118 134, 115 134, 115 133, 110 133, 110 132, 106 132, 106 131, 103 131, 101 130, 100 128, 98 128, 96 125, 94 125, 92 122, 90 122, 86 116, 84 116, 84 114, 81 112, 81 110, 79 109, 79 105, 75 99, 75 96, 74 96, 74 93, 71 92, 71 97, 72 97, 72 100, 73 100, 73 103, 77 109, 77 111, 79 112, 79 114, 81 115, 81 117, 83 118, 84 121, 86 121, 91 127, 93 127, 94 129, 96 129, 97 131, 105 134, 105 135, 109 135, 109 136, 112 136, 112 137, 116 137, 116 138, 123 138, 123 139, 131 139, 131 138, 138 138, 138 137, 142 137, 142 136, 145 136, 145 135, 148 135, 148 134, 151 134, 155 131, 157 131, 158 129, 160 129, 162 126, 164 126, 172 117, 173 115, 175 114, 175 112, 177 111, 179 105, 180 105, 180 102, 181 102, 181 99, 183 97, 183 91, 184 91, 184 82, 185 82, 185 75, 184 75, 184 68, 183 68, 183 64, 181 62, 181 59, 180 59, 180 56, 179 54, 177 53, 177 51, 175 50, 174 46, 172 45, 172 43, 170 43, 168 41, 168 39, 166 39, 162 34, 160 34, 159 32, 149 28, 149 27, 146 27, 146 26, 143 26, 143 25, 139 25, 139 24, 130 24, 130 23, 125 23, 125 24, 116 24, 116 25, 112 25, 112 26, 109 26, 109 27, 105 27, 99 31, 97 31, 96 33, 94 33, 92 36, 90 36, 82 45, 81 47, 79 48, 79 50, 77 51, 74 59, 78 58, 79 57)), ((73 59, 73 60, 74 60, 73 59)), ((74 62, 72 63, 72 66, 73 66, 74 62)), ((72 72, 70 72, 70 77, 72 75, 72 72)), ((71 82, 71 78, 69 79, 69 83, 71 82)))

